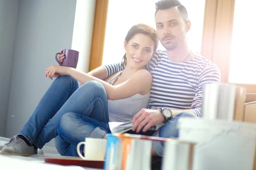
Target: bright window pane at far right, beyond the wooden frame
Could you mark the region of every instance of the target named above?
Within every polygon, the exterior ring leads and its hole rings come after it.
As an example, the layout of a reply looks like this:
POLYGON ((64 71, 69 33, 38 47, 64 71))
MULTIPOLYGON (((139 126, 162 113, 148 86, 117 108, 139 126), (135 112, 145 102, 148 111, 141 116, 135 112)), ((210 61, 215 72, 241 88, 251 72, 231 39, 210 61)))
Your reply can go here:
POLYGON ((229 82, 256 84, 256 28, 251 0, 236 0, 229 82))

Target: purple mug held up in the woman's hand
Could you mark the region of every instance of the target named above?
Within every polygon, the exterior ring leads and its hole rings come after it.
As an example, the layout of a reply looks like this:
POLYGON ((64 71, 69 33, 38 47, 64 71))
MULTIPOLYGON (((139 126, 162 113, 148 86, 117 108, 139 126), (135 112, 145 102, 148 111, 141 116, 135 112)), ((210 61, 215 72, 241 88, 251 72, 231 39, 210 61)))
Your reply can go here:
POLYGON ((78 56, 79 56, 78 51, 70 50, 70 49, 64 49, 62 51, 62 53, 57 53, 55 55, 55 59, 59 63, 59 65, 61 65, 61 66, 76 68, 77 63, 78 63, 78 56), (62 63, 59 62, 59 60, 58 60, 58 57, 57 57, 58 54, 64 54, 64 56, 65 56, 62 63))

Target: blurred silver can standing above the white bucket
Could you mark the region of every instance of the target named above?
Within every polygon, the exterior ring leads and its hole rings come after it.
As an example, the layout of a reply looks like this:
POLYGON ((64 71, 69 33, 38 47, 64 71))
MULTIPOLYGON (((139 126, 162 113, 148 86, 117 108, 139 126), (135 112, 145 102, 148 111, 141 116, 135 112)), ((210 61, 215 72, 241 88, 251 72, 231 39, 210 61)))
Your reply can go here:
POLYGON ((205 85, 202 117, 244 121, 245 91, 245 88, 232 84, 205 85))

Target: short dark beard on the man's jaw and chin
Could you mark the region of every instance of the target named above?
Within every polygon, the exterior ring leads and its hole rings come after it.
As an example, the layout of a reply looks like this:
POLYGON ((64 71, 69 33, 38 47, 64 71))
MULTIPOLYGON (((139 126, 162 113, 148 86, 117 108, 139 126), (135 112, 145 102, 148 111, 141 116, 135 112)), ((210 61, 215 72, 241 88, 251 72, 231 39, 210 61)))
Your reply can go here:
POLYGON ((181 43, 183 43, 186 40, 186 35, 185 32, 182 33, 182 37, 180 40, 177 40, 176 37, 174 35, 168 35, 168 36, 164 36, 162 38, 161 44, 163 45, 164 48, 166 48, 166 50, 174 50, 177 48, 177 46, 179 46, 181 43), (173 42, 167 42, 167 43, 163 43, 163 41, 166 38, 173 38, 173 42))

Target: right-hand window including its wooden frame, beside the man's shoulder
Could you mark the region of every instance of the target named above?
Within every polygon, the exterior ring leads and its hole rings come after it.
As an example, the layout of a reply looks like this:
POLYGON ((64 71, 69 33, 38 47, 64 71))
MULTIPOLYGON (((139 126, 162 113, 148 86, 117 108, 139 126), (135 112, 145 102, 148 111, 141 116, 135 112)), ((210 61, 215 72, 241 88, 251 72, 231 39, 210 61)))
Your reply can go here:
POLYGON ((246 88, 246 101, 256 101, 253 40, 256 26, 250 0, 206 0, 202 53, 221 71, 221 82, 246 88))

